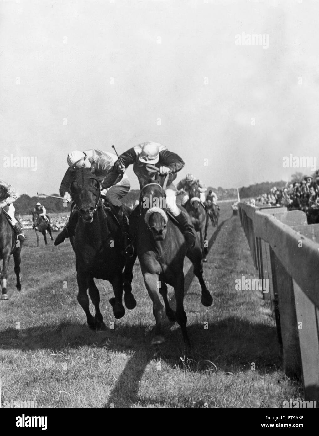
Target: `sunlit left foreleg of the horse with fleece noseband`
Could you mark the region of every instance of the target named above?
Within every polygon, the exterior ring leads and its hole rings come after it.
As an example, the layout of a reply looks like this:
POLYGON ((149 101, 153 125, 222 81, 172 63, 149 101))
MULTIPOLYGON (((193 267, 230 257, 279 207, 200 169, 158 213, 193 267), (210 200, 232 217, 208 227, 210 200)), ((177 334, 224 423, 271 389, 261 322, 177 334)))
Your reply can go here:
POLYGON ((144 283, 153 302, 153 315, 156 321, 155 336, 152 339, 152 345, 162 344, 165 339, 162 335, 162 320, 163 320, 163 304, 160 300, 160 292, 158 288, 159 276, 151 272, 143 274, 144 283))

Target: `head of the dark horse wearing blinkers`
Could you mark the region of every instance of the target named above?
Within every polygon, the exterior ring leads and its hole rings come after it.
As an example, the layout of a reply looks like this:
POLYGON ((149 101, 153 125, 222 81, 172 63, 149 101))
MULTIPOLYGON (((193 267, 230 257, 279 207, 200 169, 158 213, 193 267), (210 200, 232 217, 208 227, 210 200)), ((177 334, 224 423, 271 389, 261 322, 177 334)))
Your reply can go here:
POLYGON ((93 214, 100 200, 100 184, 90 168, 75 171, 75 180, 70 185, 73 201, 85 223, 93 221, 93 214))

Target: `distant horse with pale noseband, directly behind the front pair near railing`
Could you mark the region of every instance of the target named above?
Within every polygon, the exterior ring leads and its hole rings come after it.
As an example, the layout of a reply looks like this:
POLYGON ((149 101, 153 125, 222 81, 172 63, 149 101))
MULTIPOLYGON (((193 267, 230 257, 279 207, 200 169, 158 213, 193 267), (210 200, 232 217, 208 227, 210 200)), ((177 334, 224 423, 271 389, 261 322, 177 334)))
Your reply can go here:
POLYGON ((197 184, 193 184, 189 187, 188 196, 189 198, 184 205, 184 208, 190 215, 195 231, 200 234, 200 246, 203 253, 203 262, 207 262, 206 256, 208 249, 205 241, 207 241, 208 215, 204 205, 200 201, 200 191, 197 184))

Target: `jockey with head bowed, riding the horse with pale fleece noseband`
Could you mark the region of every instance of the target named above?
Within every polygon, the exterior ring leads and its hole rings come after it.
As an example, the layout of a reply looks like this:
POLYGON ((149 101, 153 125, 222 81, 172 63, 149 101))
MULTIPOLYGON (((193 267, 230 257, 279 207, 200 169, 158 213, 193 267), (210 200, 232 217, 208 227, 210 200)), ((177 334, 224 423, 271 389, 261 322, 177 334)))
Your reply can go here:
POLYGON ((195 244, 194 229, 188 223, 186 216, 182 213, 176 204, 176 187, 172 183, 177 177, 177 172, 185 165, 180 156, 167 150, 166 146, 155 142, 144 142, 125 153, 122 153, 114 164, 119 174, 124 174, 129 165, 133 165, 134 173, 139 179, 139 185, 142 189, 149 179, 156 173, 156 168, 163 178, 166 174, 173 174, 173 178, 166 187, 166 203, 171 214, 180 225, 180 229, 186 239, 187 245, 192 247, 195 244), (154 167, 156 167, 154 169, 154 167))

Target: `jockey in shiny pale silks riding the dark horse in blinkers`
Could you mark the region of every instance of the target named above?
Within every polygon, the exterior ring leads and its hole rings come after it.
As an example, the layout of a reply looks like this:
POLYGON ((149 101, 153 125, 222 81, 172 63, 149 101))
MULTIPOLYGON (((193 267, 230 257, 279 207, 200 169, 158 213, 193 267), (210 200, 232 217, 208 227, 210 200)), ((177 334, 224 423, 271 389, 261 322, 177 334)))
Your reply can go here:
MULTIPOLYGON (((71 151, 68 154, 68 170, 64 174, 60 186, 60 195, 67 201, 71 201, 71 194, 68 192, 70 184, 75 179, 75 172, 79 168, 91 168, 92 173, 100 182, 102 188, 101 194, 105 196, 105 200, 112 204, 116 214, 118 215, 119 222, 122 227, 123 236, 128 236, 129 224, 126 216, 126 210, 121 203, 120 199, 125 197, 131 187, 129 178, 126 174, 118 174, 114 169, 114 162, 117 157, 113 153, 102 150, 85 150, 85 151, 71 151)), ((76 208, 73 209, 75 213, 70 215, 68 224, 64 227, 62 232, 57 236, 54 245, 61 244, 65 238, 74 234, 75 225, 78 221, 78 214, 76 208)), ((127 241, 123 241, 126 246, 127 241)))

